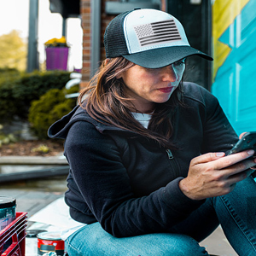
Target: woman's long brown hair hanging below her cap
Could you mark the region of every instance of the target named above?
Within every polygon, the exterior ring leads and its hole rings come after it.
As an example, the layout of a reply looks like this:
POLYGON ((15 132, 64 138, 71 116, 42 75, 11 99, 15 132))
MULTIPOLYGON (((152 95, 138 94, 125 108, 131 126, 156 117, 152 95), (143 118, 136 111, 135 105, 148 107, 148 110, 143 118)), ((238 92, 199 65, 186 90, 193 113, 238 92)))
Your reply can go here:
POLYGON ((131 112, 132 99, 125 96, 124 82, 117 79, 135 64, 123 57, 102 61, 102 66, 90 80, 88 87, 81 91, 79 105, 93 119, 107 125, 114 125, 126 131, 137 132, 143 137, 152 138, 165 148, 175 148, 170 142, 172 137, 172 113, 182 102, 182 82, 165 103, 156 103, 154 113, 149 121, 148 129, 144 128, 131 112))

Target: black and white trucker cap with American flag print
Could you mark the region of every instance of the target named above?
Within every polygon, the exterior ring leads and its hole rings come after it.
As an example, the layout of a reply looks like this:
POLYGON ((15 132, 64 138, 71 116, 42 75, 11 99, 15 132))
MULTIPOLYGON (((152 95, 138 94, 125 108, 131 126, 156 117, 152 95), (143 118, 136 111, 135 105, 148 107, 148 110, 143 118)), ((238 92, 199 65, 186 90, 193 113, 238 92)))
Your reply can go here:
POLYGON ((182 24, 156 9, 135 9, 116 16, 104 34, 107 58, 123 56, 139 66, 166 67, 190 55, 212 57, 189 45, 182 24))

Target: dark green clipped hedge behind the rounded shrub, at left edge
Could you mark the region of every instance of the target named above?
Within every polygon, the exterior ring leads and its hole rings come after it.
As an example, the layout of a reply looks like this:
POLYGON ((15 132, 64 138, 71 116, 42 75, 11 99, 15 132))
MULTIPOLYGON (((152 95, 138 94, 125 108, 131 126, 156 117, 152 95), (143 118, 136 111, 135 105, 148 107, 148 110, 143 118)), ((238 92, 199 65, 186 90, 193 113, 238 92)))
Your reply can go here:
POLYGON ((9 120, 14 116, 27 119, 32 101, 50 89, 62 89, 68 80, 70 73, 65 71, 17 73, 0 70, 0 119, 9 120))

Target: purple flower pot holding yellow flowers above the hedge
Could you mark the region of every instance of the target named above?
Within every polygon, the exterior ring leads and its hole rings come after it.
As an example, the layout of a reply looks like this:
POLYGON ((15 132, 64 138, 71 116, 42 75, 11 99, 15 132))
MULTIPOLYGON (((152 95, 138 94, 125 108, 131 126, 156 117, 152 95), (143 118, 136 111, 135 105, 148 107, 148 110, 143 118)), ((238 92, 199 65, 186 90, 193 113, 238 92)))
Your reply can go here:
POLYGON ((68 47, 48 47, 46 52, 47 70, 67 70, 68 47))

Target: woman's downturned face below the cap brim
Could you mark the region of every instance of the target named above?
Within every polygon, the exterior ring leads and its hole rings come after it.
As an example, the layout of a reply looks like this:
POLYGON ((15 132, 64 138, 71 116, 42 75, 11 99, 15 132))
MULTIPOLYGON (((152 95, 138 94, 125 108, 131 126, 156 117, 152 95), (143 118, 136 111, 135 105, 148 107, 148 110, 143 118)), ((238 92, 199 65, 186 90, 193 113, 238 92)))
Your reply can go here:
POLYGON ((140 113, 154 111, 154 103, 167 102, 183 77, 185 59, 160 68, 135 65, 120 75, 125 83, 125 94, 140 113))

